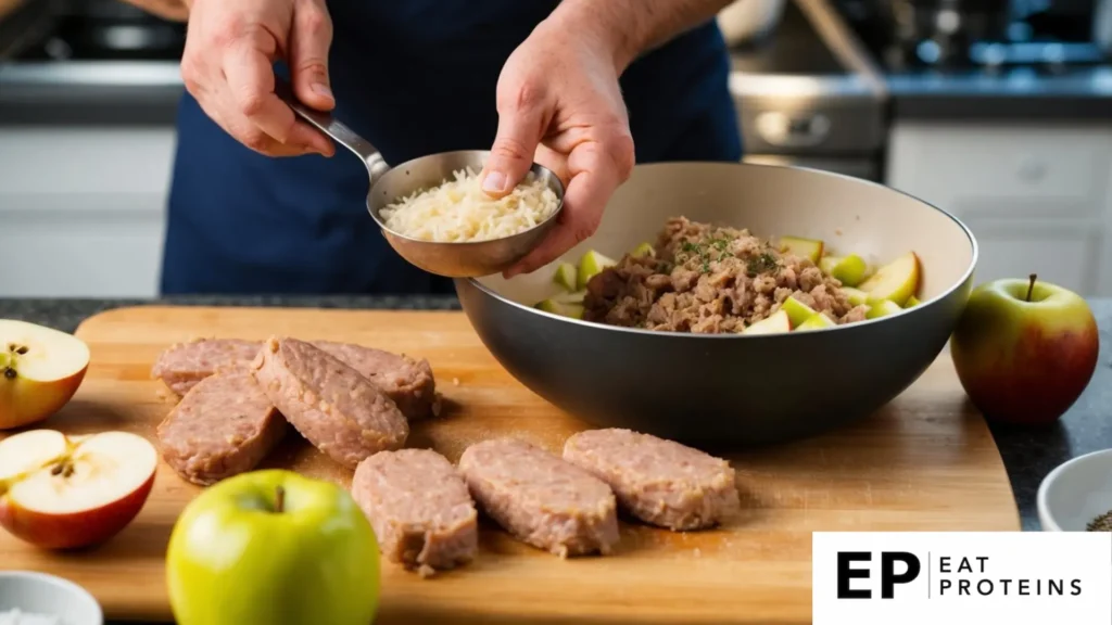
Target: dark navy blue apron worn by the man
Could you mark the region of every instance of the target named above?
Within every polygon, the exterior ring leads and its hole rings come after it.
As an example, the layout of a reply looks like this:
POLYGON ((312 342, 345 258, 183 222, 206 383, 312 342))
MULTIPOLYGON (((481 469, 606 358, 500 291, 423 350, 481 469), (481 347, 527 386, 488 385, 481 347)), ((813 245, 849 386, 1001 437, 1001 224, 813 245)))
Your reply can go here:
MULTIPOLYGON (((488 149, 502 65, 558 0, 332 0, 336 115, 387 162, 488 149)), ((742 156, 713 22, 622 77, 637 162, 742 156)), ((161 290, 173 294, 451 292, 398 257, 367 215, 367 171, 335 157, 268 158, 227 136, 186 95, 161 290)))

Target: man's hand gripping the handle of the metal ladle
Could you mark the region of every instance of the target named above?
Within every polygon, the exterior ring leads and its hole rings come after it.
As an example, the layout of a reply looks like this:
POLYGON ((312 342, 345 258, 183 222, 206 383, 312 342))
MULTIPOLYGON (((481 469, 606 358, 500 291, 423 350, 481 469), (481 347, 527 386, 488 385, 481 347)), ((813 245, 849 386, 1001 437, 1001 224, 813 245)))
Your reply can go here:
POLYGON ((181 77, 229 135, 268 156, 332 156, 332 142, 275 95, 285 60, 308 107, 336 106, 328 80, 332 22, 325 0, 193 0, 181 77))

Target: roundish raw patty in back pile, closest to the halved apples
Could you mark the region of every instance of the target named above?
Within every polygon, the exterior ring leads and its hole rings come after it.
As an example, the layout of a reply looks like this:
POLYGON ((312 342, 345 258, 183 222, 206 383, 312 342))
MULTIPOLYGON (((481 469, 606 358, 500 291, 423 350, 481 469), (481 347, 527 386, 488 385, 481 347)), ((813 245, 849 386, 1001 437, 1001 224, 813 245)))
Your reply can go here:
POLYGON ((281 415, 247 371, 209 376, 158 426, 166 464, 210 485, 255 468, 286 434, 281 415))

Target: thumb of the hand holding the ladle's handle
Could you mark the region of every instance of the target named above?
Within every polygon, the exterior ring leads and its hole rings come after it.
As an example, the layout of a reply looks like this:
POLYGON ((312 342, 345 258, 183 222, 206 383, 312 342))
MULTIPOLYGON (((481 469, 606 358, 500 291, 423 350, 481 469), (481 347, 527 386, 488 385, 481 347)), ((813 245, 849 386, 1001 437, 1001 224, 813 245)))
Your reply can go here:
POLYGON ((336 106, 328 79, 332 20, 322 1, 298 2, 290 32, 289 71, 297 99, 318 110, 336 106))

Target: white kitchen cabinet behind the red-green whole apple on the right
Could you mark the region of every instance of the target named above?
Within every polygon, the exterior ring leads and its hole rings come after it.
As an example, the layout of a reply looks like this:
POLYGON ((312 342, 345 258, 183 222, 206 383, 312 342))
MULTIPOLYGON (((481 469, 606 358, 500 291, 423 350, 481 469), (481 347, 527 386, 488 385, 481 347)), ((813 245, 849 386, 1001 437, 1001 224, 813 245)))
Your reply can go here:
POLYGON ((885 182, 962 219, 976 281, 1039 274, 1112 296, 1112 126, 897 122, 885 182))

